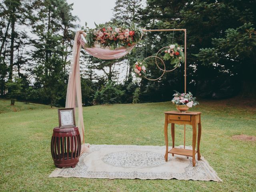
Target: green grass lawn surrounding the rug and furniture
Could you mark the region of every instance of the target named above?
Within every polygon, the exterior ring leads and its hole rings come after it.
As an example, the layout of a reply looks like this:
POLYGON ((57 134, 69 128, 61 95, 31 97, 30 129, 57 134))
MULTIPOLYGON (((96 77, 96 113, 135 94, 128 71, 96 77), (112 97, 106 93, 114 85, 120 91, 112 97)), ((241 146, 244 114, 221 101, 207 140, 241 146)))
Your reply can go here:
MULTIPOLYGON (((7 112, 13 111, 8 104, 0 100, 0 111, 6 112, 0 114, 0 191, 256 191, 256 142, 231 138, 256 136, 256 110, 236 100, 201 101, 192 108, 202 112, 201 154, 223 180, 219 183, 48 178, 55 168, 50 141, 58 126, 56 108, 34 104, 30 110, 16 102, 21 111, 7 112)), ((163 112, 168 110, 175 110, 170 102, 85 107, 86 142, 164 146, 163 112)), ((177 125, 175 134, 176 145, 183 144, 183 126, 177 125)), ((186 145, 192 144, 191 136, 187 126, 186 145)))

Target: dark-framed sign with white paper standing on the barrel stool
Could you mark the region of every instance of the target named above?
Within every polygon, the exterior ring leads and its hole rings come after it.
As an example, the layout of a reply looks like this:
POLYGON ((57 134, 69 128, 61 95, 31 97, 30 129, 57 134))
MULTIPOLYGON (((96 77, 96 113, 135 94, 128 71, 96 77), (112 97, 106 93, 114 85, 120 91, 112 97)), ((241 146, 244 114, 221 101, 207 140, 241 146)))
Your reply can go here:
POLYGON ((76 126, 74 108, 58 109, 58 116, 59 116, 59 127, 60 128, 76 126))

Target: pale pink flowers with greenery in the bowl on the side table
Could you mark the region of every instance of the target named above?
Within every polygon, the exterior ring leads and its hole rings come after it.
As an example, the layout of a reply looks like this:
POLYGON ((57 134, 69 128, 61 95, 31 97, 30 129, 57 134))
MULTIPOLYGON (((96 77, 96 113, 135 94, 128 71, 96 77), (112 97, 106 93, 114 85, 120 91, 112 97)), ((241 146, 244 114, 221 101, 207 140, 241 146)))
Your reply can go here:
POLYGON ((176 93, 173 94, 174 98, 172 99, 172 103, 176 105, 186 105, 188 107, 195 106, 199 104, 196 101, 196 98, 193 97, 191 92, 188 93, 179 93, 176 91, 176 93))

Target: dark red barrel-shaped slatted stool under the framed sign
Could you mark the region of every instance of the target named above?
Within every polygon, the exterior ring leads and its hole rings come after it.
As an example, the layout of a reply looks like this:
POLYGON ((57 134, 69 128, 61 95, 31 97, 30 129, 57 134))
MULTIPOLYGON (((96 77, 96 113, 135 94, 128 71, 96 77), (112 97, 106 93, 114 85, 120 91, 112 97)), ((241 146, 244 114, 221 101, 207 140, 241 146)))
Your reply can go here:
POLYGON ((54 128, 51 152, 56 167, 71 166, 74 168, 81 152, 81 137, 78 128, 54 128))

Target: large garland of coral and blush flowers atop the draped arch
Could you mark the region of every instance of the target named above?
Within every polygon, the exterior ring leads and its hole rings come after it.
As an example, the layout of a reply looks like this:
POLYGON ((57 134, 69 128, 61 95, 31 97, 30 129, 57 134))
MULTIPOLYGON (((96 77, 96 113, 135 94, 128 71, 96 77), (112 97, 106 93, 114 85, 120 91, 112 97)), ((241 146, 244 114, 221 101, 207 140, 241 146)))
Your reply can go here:
POLYGON ((142 30, 134 24, 115 20, 106 24, 97 25, 96 28, 90 29, 82 27, 86 32, 86 46, 103 46, 115 49, 118 46, 132 46, 136 44, 142 37, 142 30))

